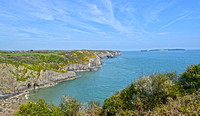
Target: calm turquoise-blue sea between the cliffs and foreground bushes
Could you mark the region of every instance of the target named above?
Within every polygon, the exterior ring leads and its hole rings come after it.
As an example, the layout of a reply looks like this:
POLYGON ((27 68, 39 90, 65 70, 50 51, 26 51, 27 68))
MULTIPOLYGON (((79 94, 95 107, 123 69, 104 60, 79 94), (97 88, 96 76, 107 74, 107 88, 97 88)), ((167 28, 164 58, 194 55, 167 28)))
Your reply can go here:
POLYGON ((77 79, 30 92, 29 99, 44 98, 58 105, 61 96, 72 96, 83 104, 103 101, 140 77, 158 72, 184 72, 191 64, 200 64, 200 50, 140 52, 123 51, 117 58, 103 59, 97 71, 80 72, 77 79))

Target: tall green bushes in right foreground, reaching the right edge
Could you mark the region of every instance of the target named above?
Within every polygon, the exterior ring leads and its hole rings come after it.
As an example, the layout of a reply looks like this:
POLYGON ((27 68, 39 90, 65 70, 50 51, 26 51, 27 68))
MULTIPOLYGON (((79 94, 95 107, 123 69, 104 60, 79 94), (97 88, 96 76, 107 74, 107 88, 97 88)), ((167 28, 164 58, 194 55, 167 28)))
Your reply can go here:
POLYGON ((200 64, 188 67, 178 77, 175 73, 145 76, 107 98, 102 115, 172 115, 169 112, 174 109, 178 112, 176 115, 200 114, 199 93, 190 95, 199 88, 200 64), (187 106, 187 102, 191 106, 187 106), (167 108, 172 108, 167 105, 169 103, 174 105, 174 109, 167 108))

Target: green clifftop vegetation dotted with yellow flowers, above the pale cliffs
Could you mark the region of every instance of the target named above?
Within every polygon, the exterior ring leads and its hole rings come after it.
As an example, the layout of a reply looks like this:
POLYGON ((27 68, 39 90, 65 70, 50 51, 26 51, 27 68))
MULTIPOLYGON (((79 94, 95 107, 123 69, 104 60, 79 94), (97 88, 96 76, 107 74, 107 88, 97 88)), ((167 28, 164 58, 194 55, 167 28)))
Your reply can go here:
POLYGON ((10 70, 17 81, 26 81, 28 78, 38 78, 41 70, 67 72, 65 66, 70 64, 88 64, 89 59, 96 58, 93 52, 86 50, 74 51, 0 51, 0 63, 11 64, 16 71, 10 70), (20 67, 20 66, 23 66, 20 67), (26 75, 28 70, 37 72, 37 76, 26 75), (18 74, 20 73, 20 74, 18 74))

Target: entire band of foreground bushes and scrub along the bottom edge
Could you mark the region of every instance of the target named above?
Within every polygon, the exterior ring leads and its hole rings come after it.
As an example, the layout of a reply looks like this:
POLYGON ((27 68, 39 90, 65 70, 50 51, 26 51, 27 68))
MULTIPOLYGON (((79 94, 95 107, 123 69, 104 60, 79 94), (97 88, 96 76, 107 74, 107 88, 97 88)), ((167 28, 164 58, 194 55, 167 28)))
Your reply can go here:
POLYGON ((200 64, 192 65, 178 76, 172 72, 142 77, 107 98, 102 107, 90 102, 91 107, 83 111, 73 98, 63 100, 58 107, 39 100, 22 105, 15 115, 44 115, 46 110, 49 115, 200 115, 199 75, 200 64))

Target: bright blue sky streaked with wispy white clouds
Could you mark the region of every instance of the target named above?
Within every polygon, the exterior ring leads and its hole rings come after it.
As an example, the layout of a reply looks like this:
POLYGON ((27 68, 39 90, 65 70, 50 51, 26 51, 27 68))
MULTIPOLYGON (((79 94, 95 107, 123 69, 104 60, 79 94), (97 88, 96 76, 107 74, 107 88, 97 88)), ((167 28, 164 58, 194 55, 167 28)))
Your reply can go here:
POLYGON ((199 0, 0 0, 0 49, 200 48, 199 0))

